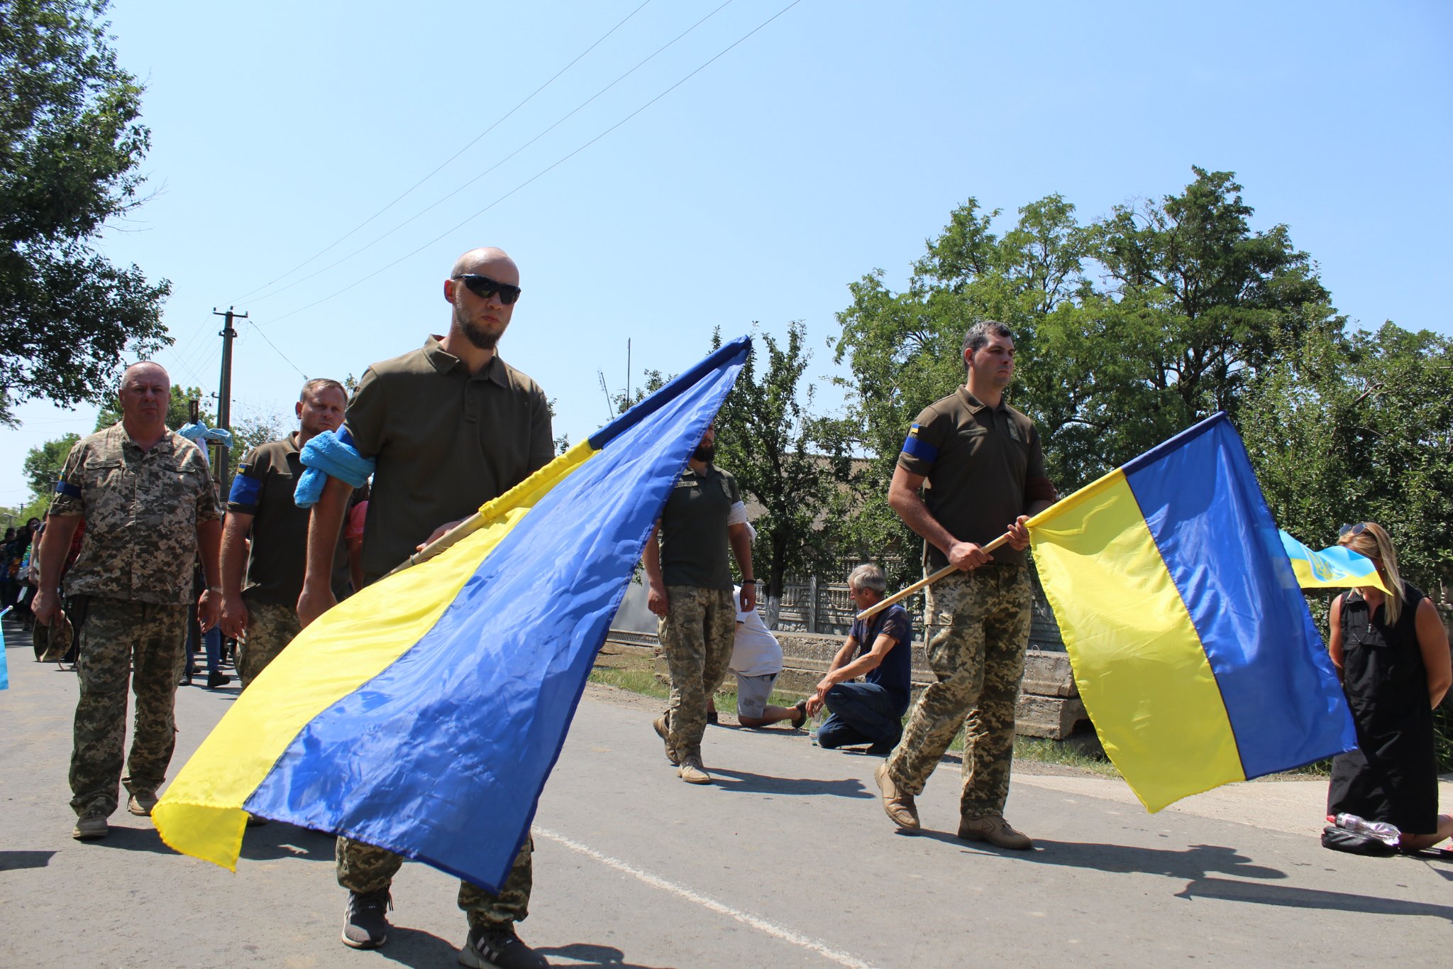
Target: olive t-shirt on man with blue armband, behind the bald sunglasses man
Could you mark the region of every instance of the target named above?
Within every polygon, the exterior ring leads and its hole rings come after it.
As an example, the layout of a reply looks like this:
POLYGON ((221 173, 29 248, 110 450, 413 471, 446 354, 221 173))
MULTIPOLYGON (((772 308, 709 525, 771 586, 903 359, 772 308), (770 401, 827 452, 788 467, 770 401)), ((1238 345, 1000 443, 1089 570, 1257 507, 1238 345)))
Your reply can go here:
MULTIPOLYGON (((232 478, 227 510, 253 516, 243 583, 243 599, 248 601, 295 606, 302 593, 308 508, 299 508, 292 500, 301 474, 298 431, 294 431, 250 450, 232 478)), ((349 554, 340 538, 333 555, 333 594, 341 600, 349 590, 349 554)))

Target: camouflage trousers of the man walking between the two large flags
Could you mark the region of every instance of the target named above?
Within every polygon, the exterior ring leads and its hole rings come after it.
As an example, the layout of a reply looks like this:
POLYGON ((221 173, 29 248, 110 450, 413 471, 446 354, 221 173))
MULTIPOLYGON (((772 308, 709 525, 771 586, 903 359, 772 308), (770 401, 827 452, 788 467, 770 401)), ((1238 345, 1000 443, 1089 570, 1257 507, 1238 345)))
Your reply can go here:
POLYGON ((667 585, 670 609, 657 622, 657 636, 671 673, 667 744, 681 757, 700 753, 706 734, 706 699, 726 678, 737 607, 729 588, 667 585))

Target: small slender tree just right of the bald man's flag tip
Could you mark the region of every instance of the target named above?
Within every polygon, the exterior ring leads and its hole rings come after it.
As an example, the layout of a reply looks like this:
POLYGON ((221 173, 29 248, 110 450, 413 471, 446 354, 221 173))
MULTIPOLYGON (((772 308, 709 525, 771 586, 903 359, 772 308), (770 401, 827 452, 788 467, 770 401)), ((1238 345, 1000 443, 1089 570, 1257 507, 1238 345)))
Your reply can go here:
MULTIPOLYGON (((805 343, 801 321, 788 325, 782 341, 756 336, 716 414, 718 463, 737 478, 742 498, 761 507, 751 559, 773 617, 789 574, 831 565, 837 519, 828 511, 849 471, 846 442, 811 413, 815 388, 804 379, 812 359, 805 343)), ((718 330, 712 349, 719 346, 718 330)))

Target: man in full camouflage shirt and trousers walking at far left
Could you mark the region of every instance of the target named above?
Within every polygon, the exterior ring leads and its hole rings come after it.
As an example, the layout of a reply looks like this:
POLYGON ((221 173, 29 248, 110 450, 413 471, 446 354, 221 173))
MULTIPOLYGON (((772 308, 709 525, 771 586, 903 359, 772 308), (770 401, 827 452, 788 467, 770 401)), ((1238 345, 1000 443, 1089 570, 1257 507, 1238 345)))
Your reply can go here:
POLYGON ((177 674, 186 649, 192 564, 201 552, 208 590, 203 629, 216 625, 221 522, 196 445, 166 426, 171 379, 155 363, 122 376, 121 421, 83 437, 55 485, 41 548, 39 622, 61 620, 60 577, 71 536, 86 522, 65 578, 80 635, 81 694, 71 751, 77 838, 103 838, 119 784, 126 809, 150 815, 176 744, 177 674), (126 776, 126 680, 137 694, 126 776))

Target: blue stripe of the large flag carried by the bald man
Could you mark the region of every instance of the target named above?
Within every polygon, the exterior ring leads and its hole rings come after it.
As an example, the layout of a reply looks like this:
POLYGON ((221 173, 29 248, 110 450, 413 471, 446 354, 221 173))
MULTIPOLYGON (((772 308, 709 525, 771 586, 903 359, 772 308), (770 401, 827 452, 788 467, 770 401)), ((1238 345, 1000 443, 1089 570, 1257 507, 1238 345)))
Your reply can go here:
POLYGON ((498 891, 645 539, 748 349, 613 424, 417 645, 298 734, 247 809, 498 891))

